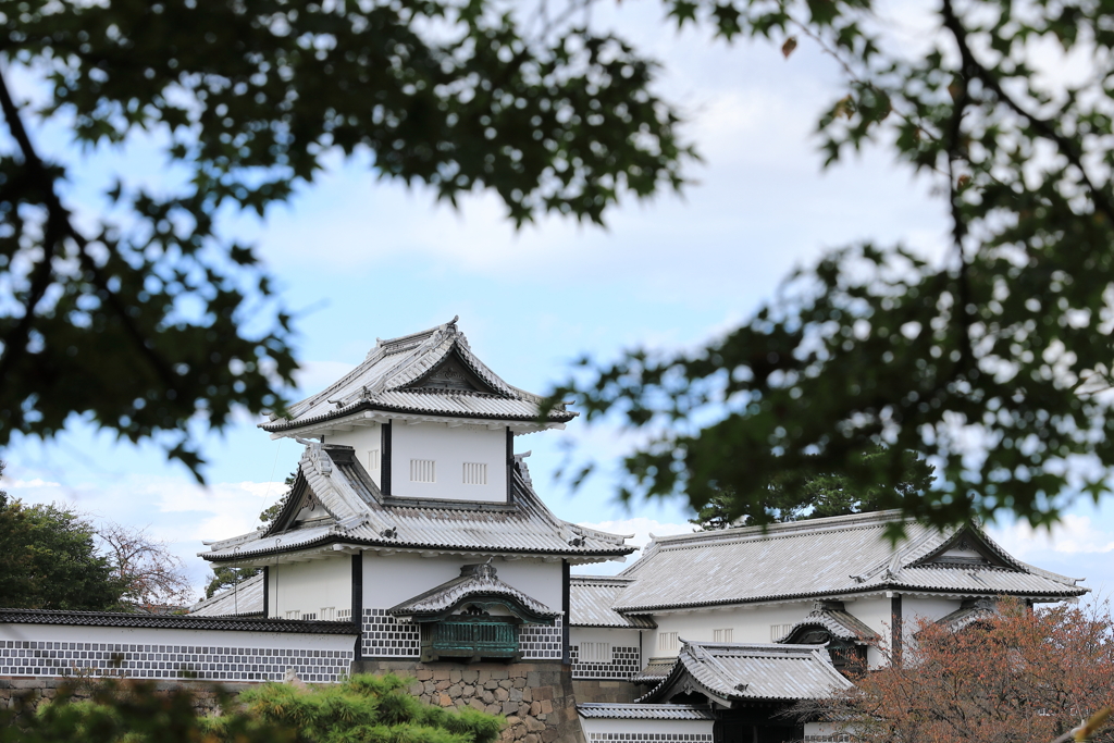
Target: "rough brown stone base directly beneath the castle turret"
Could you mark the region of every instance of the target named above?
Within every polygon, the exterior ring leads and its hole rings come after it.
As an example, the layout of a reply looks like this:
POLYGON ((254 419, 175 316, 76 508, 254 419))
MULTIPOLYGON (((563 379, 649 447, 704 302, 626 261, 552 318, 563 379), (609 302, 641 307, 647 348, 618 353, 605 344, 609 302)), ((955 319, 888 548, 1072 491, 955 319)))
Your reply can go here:
POLYGON ((585 743, 570 666, 364 659, 353 672, 413 676, 410 691, 422 702, 506 715, 501 743, 585 743))

